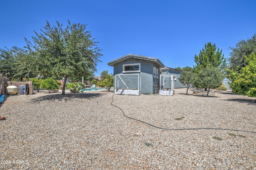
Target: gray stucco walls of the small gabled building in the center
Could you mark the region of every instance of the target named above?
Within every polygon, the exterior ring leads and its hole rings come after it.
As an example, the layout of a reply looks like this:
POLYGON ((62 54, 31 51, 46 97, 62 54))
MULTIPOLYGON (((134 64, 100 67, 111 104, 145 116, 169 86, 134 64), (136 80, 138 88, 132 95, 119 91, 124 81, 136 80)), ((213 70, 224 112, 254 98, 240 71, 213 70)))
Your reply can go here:
MULTIPOLYGON (((154 93, 153 82, 157 82, 159 84, 159 77, 160 77, 160 66, 154 62, 144 59, 137 59, 137 58, 128 58, 120 61, 119 63, 114 64, 114 75, 116 74, 140 74, 141 76, 141 93, 154 93), (131 73, 123 73, 123 64, 133 64, 133 63, 140 63, 140 72, 131 72, 131 73), (158 79, 153 78, 153 67, 156 67, 158 72, 158 79)), ((125 83, 134 83, 137 84, 136 80, 123 80, 125 83), (131 82, 132 81, 132 82, 131 82)), ((116 85, 116 79, 114 77, 114 89, 116 85)), ((129 87, 130 88, 130 87, 129 87)))

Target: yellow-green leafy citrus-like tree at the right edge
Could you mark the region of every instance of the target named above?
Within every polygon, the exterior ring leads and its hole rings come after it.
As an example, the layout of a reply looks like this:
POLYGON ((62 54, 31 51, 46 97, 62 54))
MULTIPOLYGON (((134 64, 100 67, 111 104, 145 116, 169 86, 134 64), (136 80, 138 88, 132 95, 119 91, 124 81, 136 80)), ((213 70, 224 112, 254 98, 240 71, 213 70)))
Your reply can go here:
POLYGON ((256 97, 256 55, 251 53, 245 56, 245 67, 240 71, 238 69, 228 70, 230 79, 230 87, 232 92, 239 95, 246 95, 248 97, 256 97))

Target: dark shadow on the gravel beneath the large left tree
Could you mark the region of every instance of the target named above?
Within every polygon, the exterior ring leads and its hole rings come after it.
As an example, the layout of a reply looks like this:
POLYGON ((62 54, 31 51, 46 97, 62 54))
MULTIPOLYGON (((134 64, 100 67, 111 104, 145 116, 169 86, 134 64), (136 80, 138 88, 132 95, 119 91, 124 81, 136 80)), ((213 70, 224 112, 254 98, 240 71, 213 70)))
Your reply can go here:
POLYGON ((49 94, 44 96, 39 96, 36 99, 33 99, 32 101, 28 103, 40 103, 41 101, 76 101, 77 99, 94 99, 97 97, 101 97, 103 94, 101 93, 68 93, 65 95, 62 94, 49 94))

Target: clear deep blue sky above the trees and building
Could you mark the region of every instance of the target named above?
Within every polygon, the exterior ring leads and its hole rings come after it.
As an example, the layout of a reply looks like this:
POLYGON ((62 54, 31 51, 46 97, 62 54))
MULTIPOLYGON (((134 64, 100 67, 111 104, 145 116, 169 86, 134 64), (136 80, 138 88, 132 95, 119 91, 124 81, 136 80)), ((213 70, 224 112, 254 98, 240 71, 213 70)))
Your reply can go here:
POLYGON ((166 67, 193 67, 207 42, 224 57, 256 33, 256 0, 5 0, 0 1, 0 48, 24 47, 25 38, 56 21, 87 24, 107 63, 129 53, 156 57, 166 67))

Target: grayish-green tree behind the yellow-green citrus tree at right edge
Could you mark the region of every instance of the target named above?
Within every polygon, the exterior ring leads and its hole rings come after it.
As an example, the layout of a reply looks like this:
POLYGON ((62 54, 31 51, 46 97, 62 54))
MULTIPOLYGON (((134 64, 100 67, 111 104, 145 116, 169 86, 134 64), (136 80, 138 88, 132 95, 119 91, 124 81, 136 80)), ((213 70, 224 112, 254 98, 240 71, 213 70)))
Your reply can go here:
POLYGON ((230 47, 229 69, 237 69, 238 72, 245 67, 248 63, 245 56, 250 55, 252 52, 256 53, 256 34, 247 40, 241 40, 236 43, 236 47, 230 47))

